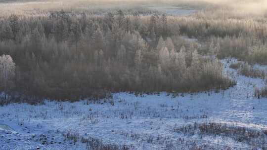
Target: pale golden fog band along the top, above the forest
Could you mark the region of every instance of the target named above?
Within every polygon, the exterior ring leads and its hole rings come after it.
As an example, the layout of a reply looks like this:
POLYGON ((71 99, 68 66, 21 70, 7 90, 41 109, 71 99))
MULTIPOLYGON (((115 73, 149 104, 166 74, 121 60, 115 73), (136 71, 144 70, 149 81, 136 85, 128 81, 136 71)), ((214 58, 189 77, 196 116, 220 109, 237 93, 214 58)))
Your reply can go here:
MULTIPOLYGON (((19 9, 58 9, 70 7, 125 7, 143 5, 187 5, 203 9, 209 5, 228 7, 240 13, 266 14, 266 0, 0 0, 2 6, 11 6, 19 9), (39 5, 39 4, 42 5, 39 5), (51 4, 51 5, 50 5, 51 4), (15 6, 19 5, 19 6, 15 6), (24 7, 24 8, 23 8, 24 7)), ((10 10, 9 10, 10 11, 10 10)), ((11 10, 15 11, 15 10, 11 10)))

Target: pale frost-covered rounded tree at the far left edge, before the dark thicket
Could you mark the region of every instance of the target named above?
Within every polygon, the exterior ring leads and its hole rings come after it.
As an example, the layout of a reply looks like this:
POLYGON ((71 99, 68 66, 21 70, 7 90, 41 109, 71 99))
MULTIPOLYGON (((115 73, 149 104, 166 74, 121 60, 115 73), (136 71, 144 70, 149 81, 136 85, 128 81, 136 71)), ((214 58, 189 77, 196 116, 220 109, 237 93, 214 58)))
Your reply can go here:
POLYGON ((6 99, 6 92, 11 86, 12 79, 15 75, 15 63, 10 55, 0 56, 0 83, 3 85, 6 99))

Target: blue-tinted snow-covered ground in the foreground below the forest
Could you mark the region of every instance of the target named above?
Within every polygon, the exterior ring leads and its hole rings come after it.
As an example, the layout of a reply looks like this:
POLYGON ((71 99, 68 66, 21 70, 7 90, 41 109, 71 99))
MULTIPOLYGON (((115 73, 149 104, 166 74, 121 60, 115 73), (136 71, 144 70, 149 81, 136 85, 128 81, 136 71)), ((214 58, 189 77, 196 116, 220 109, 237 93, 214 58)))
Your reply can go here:
MULTIPOLYGON (((230 63, 236 60, 230 60, 230 63)), ((115 93, 101 101, 9 104, 0 107, 0 150, 94 150, 66 138, 67 133, 99 139, 131 150, 251 150, 248 142, 221 135, 184 135, 176 128, 195 122, 222 122, 251 130, 267 130, 267 99, 257 99, 255 87, 265 81, 237 75, 222 60, 225 74, 237 85, 215 93, 135 96, 115 93)), ((265 141, 266 136, 263 138, 265 141)), ((266 146, 265 143, 262 144, 266 146)), ((260 148, 257 148, 260 149, 260 148)))

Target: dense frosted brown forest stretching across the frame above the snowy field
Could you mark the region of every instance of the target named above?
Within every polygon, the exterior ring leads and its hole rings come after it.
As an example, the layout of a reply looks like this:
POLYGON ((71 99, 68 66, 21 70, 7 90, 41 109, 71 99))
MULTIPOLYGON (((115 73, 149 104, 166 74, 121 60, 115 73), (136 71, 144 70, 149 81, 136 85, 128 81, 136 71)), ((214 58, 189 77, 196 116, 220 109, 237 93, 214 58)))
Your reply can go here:
POLYGON ((266 18, 225 19, 210 11, 168 16, 61 10, 1 17, 0 55, 11 66, 7 76, 1 74, 1 88, 33 101, 226 89, 235 81, 223 74, 217 57, 267 64, 266 18))

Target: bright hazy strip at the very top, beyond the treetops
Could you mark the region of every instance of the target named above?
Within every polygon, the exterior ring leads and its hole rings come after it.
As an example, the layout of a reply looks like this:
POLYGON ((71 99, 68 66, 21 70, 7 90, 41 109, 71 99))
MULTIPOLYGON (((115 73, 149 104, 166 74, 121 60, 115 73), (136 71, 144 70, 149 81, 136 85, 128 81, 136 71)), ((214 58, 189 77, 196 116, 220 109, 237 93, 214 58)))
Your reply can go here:
MULTIPOLYGON (((40 0, 36 1, 33 0, 31 2, 20 2, 20 5, 16 4, 1 4, 0 5, 0 12, 6 13, 8 11, 19 11, 24 9, 34 9, 34 8, 40 8, 40 9, 52 9, 57 8, 61 6, 69 6, 69 7, 79 7, 81 5, 83 6, 94 6, 94 4, 112 4, 109 5, 112 6, 118 6, 123 4, 129 4, 130 6, 136 5, 142 5, 142 4, 159 4, 162 3, 168 3, 169 5, 179 5, 179 3, 192 3, 194 6, 198 6, 199 1, 204 1, 207 3, 213 3, 229 6, 231 9, 233 9, 235 12, 245 14, 245 13, 256 13, 256 14, 267 14, 267 0, 40 0), (33 2, 35 1, 35 2, 33 2), (45 4, 45 1, 49 1, 53 4, 45 4), (40 2, 43 2, 42 4, 39 4, 40 2), (23 3, 23 4, 22 4, 23 3), (64 5, 63 5, 64 4, 64 5), (13 6, 14 5, 14 6, 13 6), (2 7, 1 7, 2 6, 2 7)), ((16 2, 17 3, 17 2, 16 2)), ((190 5, 190 4, 189 4, 190 5)), ((201 5, 202 7, 203 5, 201 5)))

